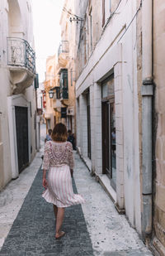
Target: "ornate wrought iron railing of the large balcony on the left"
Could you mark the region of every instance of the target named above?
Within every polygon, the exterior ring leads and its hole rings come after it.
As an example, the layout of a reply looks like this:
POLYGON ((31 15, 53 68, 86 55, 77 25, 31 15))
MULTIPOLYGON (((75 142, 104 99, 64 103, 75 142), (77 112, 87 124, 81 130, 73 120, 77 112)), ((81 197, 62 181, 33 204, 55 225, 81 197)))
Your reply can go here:
POLYGON ((26 67, 35 74, 35 51, 18 37, 7 37, 7 65, 26 67))

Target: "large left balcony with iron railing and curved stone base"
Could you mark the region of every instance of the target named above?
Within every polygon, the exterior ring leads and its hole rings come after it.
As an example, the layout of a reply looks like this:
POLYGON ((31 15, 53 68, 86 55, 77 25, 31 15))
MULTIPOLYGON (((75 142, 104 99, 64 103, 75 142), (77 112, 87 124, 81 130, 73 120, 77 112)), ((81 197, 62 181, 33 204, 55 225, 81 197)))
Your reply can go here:
POLYGON ((35 79, 35 51, 21 38, 7 37, 7 65, 11 72, 12 94, 20 94, 35 79))

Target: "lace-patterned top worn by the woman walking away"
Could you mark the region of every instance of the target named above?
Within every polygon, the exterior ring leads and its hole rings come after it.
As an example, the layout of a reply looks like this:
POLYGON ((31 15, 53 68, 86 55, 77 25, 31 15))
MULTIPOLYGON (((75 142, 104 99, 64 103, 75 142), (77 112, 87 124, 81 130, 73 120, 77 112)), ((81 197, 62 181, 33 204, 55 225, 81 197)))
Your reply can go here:
POLYGON ((74 167, 73 146, 71 142, 46 142, 43 160, 43 170, 67 164, 70 169, 74 167))

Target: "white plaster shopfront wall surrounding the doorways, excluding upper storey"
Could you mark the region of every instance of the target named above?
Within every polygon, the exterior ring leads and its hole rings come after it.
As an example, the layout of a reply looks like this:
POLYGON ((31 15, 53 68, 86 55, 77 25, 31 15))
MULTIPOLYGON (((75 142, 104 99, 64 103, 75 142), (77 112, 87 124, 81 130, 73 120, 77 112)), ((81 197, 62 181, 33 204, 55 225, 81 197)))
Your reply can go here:
MULTIPOLYGON (((123 116, 123 135, 120 134, 120 122, 118 122, 118 138, 123 136, 123 145, 118 152, 123 152, 123 159, 120 160, 122 175, 119 176, 120 189, 117 191, 122 199, 121 204, 125 203, 125 211, 130 223, 138 229, 140 233, 140 183, 139 183, 139 106, 137 93, 136 75, 136 19, 125 32, 137 10, 136 2, 122 1, 118 9, 119 14, 115 15, 106 31, 97 42, 92 56, 84 66, 81 75, 76 83, 76 97, 82 97, 85 89, 94 83, 93 102, 94 111, 92 114, 92 127, 94 135, 92 138, 92 167, 101 173, 101 86, 99 82, 105 75, 122 62, 120 73, 122 75, 120 94, 115 94, 115 100, 120 100, 122 105, 116 104, 116 112, 123 116), (124 34, 125 33, 125 34, 124 34), (120 38, 122 36, 122 38, 120 38), (119 41, 120 40, 120 41, 119 41), (122 45, 122 52, 120 50, 122 45), (122 99, 120 99, 120 97, 122 99), (98 135, 98 136, 97 136, 98 135), (100 159, 99 159, 100 157, 100 159), (122 170, 123 169, 123 170, 122 170)), ((115 70, 115 72, 117 72, 115 70)), ((114 74, 115 77, 117 74, 114 74)), ((115 79, 115 87, 120 86, 115 79)), ((91 97, 92 99, 92 97, 91 97)), ((92 103, 93 104, 93 103, 92 103)), ((81 105, 80 105, 81 112, 81 105)), ((81 115, 80 115, 81 118, 81 115)), ((82 120, 80 120, 80 123, 82 120)), ((82 133, 81 133, 82 137, 82 133)), ((82 147, 81 138, 80 147, 82 147)), ((119 173, 119 174, 121 174, 119 173)))

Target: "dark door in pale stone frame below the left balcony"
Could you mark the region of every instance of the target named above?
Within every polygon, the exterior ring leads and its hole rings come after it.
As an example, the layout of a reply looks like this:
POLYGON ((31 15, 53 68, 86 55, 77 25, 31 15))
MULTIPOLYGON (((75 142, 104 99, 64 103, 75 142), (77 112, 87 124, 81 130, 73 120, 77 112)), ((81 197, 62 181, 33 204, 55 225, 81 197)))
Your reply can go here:
POLYGON ((28 109, 26 107, 15 107, 16 113, 16 142, 19 173, 29 163, 28 146, 28 109))

